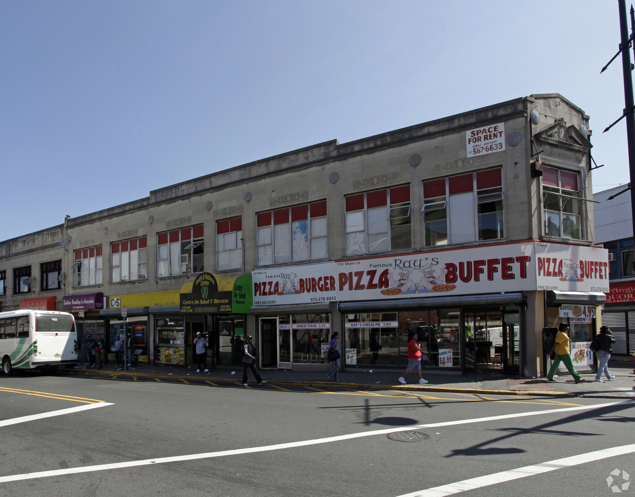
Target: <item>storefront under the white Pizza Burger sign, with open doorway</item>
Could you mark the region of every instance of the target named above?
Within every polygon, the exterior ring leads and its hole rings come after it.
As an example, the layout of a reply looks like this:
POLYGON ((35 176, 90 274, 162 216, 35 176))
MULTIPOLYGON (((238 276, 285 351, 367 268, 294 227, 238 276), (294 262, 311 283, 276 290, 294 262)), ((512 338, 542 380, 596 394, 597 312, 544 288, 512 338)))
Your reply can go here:
POLYGON ((340 331, 334 264, 252 272, 251 314, 255 315, 258 330, 261 368, 330 369, 326 359, 328 344, 331 333, 340 331))

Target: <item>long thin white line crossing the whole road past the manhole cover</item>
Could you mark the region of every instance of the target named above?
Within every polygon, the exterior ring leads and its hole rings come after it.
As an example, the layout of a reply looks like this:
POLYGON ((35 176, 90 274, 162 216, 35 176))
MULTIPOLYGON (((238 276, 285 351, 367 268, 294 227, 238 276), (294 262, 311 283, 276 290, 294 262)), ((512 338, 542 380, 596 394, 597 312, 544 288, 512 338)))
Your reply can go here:
POLYGON ((144 459, 140 461, 124 461, 121 463, 100 464, 94 466, 81 466, 77 468, 65 468, 50 471, 39 471, 36 473, 24 473, 20 475, 8 475, 0 477, 0 483, 12 482, 17 480, 30 480, 34 478, 44 478, 49 476, 72 475, 77 473, 88 473, 93 471, 103 471, 118 468, 131 468, 135 466, 146 466, 160 463, 173 463, 177 461, 192 461, 196 459, 208 459, 222 456, 234 456, 237 454, 253 454, 257 452, 276 451, 280 449, 291 449, 294 447, 305 447, 309 445, 326 444, 328 442, 338 442, 342 440, 351 440, 361 437, 371 437, 373 435, 385 435, 393 432, 404 432, 407 430, 416 430, 417 428, 445 427, 451 425, 464 425, 467 423, 481 423, 483 421, 505 420, 509 418, 521 418, 523 416, 535 416, 537 414, 565 413, 568 411, 582 411, 584 409, 598 409, 609 406, 619 406, 623 404, 635 405, 633 401, 622 402, 606 402, 606 404, 592 404, 590 406, 577 406, 575 408, 562 409, 545 409, 544 411, 530 411, 527 413, 503 414, 502 416, 488 416, 487 418, 474 418, 472 420, 445 421, 443 423, 431 423, 427 425, 411 425, 400 428, 386 428, 385 430, 373 430, 370 432, 359 432, 348 435, 337 435, 335 437, 326 437, 323 439, 306 440, 302 442, 288 442, 286 444, 267 445, 262 447, 248 447, 245 449, 231 449, 229 451, 206 452, 202 454, 189 454, 185 456, 171 456, 155 459, 144 459))

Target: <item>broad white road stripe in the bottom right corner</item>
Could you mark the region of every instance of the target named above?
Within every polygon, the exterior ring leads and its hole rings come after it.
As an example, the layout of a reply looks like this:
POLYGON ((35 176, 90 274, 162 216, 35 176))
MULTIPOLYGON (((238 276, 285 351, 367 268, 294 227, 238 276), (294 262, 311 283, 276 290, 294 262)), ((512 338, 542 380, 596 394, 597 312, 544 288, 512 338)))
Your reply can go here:
POLYGON ((501 482, 518 480, 519 478, 525 478, 527 476, 539 475, 540 473, 546 473, 548 471, 577 466, 578 464, 590 463, 592 461, 599 461, 601 459, 621 456, 623 454, 631 454, 633 452, 635 452, 635 444, 610 447, 608 449, 602 449, 601 451, 587 452, 586 454, 578 454, 577 456, 555 459, 553 461, 547 461, 546 463, 534 464, 523 468, 516 468, 491 475, 479 476, 478 478, 462 480, 449 485, 420 490, 411 494, 403 494, 399 497, 443 497, 446 495, 465 492, 467 490, 495 485, 501 482))

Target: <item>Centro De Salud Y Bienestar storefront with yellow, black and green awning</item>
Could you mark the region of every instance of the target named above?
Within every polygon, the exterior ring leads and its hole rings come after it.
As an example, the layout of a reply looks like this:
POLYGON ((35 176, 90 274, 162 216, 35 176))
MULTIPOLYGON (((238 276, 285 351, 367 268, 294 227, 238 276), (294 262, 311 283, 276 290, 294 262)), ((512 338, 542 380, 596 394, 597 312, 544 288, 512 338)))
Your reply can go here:
POLYGON ((208 343, 209 367, 241 366, 250 307, 250 274, 201 273, 185 283, 180 291, 180 313, 187 363, 197 362, 192 341, 200 331, 208 343))

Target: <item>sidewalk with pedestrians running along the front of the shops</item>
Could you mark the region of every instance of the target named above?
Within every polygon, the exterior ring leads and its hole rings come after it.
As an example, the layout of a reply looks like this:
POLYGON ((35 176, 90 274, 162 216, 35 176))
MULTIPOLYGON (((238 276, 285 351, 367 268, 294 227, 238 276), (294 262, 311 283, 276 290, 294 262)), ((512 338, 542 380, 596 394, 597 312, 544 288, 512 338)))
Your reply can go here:
MULTIPOLYGON (((446 391, 483 394, 516 394, 516 395, 549 395, 572 396, 584 395, 585 397, 605 397, 629 399, 635 398, 635 374, 631 364, 623 362, 611 362, 610 371, 615 380, 599 383, 594 381, 595 374, 582 374, 586 381, 574 383, 570 374, 561 374, 557 383, 551 383, 545 378, 519 378, 507 374, 495 373, 469 373, 462 376, 450 374, 430 374, 424 378, 429 381, 425 385, 418 383, 416 373, 410 373, 406 377, 407 385, 399 383, 398 373, 382 373, 377 370, 370 373, 366 371, 354 371, 340 373, 340 381, 330 381, 326 373, 321 371, 290 371, 286 369, 260 369, 264 380, 274 384, 305 385, 319 387, 358 388, 362 390, 396 388, 401 390, 420 391, 446 391)), ((104 369, 77 368, 75 371, 93 374, 123 374, 121 369, 114 366, 104 366, 104 369)), ((142 376, 170 376, 170 378, 200 378, 201 380, 232 381, 242 383, 243 369, 210 369, 209 373, 196 373, 195 368, 183 366, 135 366, 128 369, 128 374, 142 376), (232 374, 233 372, 233 374, 232 374)), ((249 373, 249 381, 253 382, 253 375, 249 373)))

